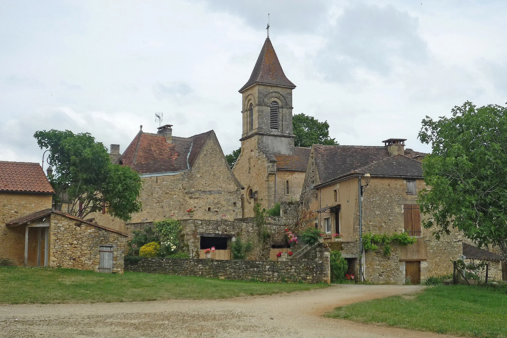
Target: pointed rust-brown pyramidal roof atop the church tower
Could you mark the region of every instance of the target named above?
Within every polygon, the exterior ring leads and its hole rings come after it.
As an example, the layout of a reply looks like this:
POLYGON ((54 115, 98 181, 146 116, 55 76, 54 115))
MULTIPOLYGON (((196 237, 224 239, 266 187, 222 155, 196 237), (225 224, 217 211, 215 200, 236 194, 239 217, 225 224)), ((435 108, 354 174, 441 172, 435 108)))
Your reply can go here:
POLYGON ((278 61, 278 57, 276 56, 275 49, 273 48, 269 37, 266 38, 264 46, 262 46, 261 53, 259 54, 257 62, 253 67, 250 79, 248 79, 246 84, 241 87, 239 92, 241 93, 243 90, 255 83, 260 83, 263 85, 274 85, 291 89, 296 88, 296 86, 285 76, 285 73, 283 72, 282 66, 280 65, 280 61, 278 61))

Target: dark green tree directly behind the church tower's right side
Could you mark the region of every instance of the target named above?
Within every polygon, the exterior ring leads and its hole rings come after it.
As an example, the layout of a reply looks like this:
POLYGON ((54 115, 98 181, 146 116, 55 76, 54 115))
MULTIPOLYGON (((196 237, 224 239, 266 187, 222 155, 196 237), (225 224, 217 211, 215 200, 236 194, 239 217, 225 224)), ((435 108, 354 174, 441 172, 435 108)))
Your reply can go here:
POLYGON ((303 113, 296 114, 292 118, 292 129, 296 139, 294 145, 311 147, 312 144, 338 144, 334 138, 329 137, 328 121, 318 122, 312 116, 303 113))

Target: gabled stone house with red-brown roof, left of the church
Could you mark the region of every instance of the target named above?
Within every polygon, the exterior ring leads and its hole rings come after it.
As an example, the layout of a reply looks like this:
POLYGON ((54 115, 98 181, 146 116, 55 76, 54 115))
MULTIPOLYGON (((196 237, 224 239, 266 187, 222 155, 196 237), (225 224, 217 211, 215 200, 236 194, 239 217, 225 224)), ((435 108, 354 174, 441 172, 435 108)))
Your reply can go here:
POLYGON ((110 228, 131 232, 130 223, 153 222, 165 218, 228 219, 242 217, 243 186, 232 173, 213 130, 190 137, 172 135, 172 125, 157 133, 142 126, 123 154, 111 145, 113 162, 127 165, 141 177, 142 210, 125 224, 102 213, 89 215, 110 228), (194 209, 195 212, 187 213, 194 209))

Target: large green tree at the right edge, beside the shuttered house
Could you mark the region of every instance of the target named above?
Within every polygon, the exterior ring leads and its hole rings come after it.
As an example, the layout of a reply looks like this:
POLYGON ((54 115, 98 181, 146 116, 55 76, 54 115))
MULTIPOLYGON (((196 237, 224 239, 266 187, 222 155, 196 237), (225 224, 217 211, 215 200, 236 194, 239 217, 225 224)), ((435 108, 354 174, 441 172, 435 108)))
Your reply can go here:
POLYGON ((421 142, 432 146, 423 160, 421 210, 432 215, 425 228, 434 235, 457 228, 479 246, 500 247, 507 261, 507 108, 472 102, 452 109, 452 117, 426 117, 421 142))

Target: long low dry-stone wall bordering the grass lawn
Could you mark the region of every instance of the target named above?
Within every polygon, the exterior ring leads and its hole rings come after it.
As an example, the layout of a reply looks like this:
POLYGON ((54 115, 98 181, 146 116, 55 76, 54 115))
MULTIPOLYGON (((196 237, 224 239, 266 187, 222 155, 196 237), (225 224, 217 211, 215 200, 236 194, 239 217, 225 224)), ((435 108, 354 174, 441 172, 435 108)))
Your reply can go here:
POLYGON ((329 283, 331 278, 329 251, 320 251, 319 259, 316 260, 137 259, 137 262, 128 262, 125 269, 133 272, 262 282, 329 283))

